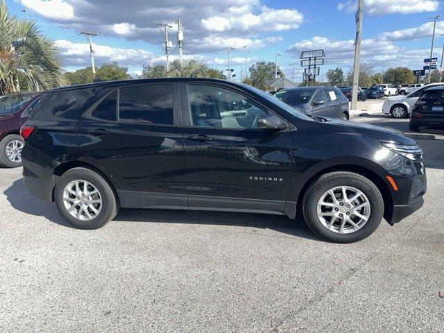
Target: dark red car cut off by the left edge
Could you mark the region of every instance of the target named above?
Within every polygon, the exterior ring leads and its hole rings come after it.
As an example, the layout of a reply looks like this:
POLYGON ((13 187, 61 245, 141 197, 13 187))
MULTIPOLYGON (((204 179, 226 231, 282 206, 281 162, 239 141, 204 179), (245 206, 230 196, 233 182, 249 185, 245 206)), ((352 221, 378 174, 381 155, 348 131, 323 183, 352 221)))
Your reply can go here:
POLYGON ((0 96, 0 166, 22 166, 23 139, 20 128, 40 101, 35 92, 23 92, 0 96))

